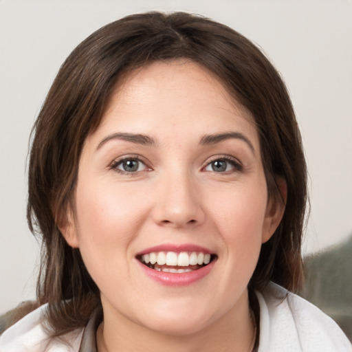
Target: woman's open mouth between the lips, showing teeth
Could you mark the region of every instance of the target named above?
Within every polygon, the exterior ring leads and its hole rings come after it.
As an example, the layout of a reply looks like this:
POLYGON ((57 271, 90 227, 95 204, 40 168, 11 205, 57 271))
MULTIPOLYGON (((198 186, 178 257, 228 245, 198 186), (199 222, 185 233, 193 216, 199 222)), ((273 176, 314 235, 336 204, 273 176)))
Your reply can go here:
POLYGON ((205 252, 149 252, 136 258, 158 272, 183 274, 206 267, 217 258, 217 255, 205 252))

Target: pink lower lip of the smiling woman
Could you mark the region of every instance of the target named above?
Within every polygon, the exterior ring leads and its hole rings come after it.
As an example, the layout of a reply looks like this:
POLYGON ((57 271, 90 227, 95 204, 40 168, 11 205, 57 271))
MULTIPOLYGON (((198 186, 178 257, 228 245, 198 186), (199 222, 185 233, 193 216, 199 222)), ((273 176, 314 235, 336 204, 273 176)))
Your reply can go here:
POLYGON ((201 278, 207 276, 215 265, 216 259, 214 259, 208 265, 201 267, 198 270, 193 270, 192 272, 182 272, 182 273, 170 273, 170 272, 159 272, 151 267, 147 267, 136 259, 144 273, 154 281, 162 283, 166 286, 187 286, 195 283, 201 278))

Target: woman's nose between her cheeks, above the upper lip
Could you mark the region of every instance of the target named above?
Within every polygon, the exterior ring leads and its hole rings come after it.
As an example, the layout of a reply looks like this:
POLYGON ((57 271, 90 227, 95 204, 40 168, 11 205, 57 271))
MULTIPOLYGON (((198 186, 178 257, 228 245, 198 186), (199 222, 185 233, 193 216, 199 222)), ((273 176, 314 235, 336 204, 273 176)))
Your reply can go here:
POLYGON ((165 175, 155 189, 154 221, 171 228, 195 227, 203 223, 201 191, 187 173, 165 175))

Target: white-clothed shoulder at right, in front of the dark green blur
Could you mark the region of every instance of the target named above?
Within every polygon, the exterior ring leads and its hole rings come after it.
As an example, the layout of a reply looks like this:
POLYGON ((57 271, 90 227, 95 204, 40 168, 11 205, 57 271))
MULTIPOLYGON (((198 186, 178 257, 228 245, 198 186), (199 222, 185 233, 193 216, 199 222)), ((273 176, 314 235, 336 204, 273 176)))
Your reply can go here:
POLYGON ((340 327, 318 307, 270 283, 259 300, 259 352, 344 352, 352 345, 340 327))

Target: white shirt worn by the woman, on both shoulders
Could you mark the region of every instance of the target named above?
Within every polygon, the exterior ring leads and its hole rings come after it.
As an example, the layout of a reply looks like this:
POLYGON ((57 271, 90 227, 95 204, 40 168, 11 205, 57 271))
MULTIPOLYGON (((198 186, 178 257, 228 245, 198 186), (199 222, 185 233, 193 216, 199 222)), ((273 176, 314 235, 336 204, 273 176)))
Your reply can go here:
MULTIPOLYGON (((260 307, 258 352, 352 352, 340 327, 320 309, 274 283, 256 292, 260 307)), ((0 352, 96 352, 95 325, 76 329, 61 340, 48 340, 43 329, 45 305, 19 320, 0 336, 0 352), (90 349, 90 351, 88 350, 90 349)), ((216 351, 214 351, 216 352, 216 351)))

